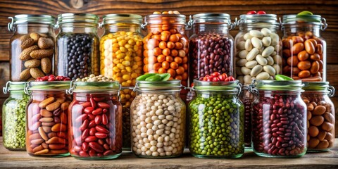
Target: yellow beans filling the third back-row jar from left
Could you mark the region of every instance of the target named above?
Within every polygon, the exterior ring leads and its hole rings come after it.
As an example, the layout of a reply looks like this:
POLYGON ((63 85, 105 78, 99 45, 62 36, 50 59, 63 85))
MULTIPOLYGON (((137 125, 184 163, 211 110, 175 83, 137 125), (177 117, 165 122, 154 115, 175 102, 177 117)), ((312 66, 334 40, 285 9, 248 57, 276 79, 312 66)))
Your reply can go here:
POLYGON ((142 75, 142 37, 119 31, 101 38, 101 75, 112 77, 123 87, 134 86, 142 75))

